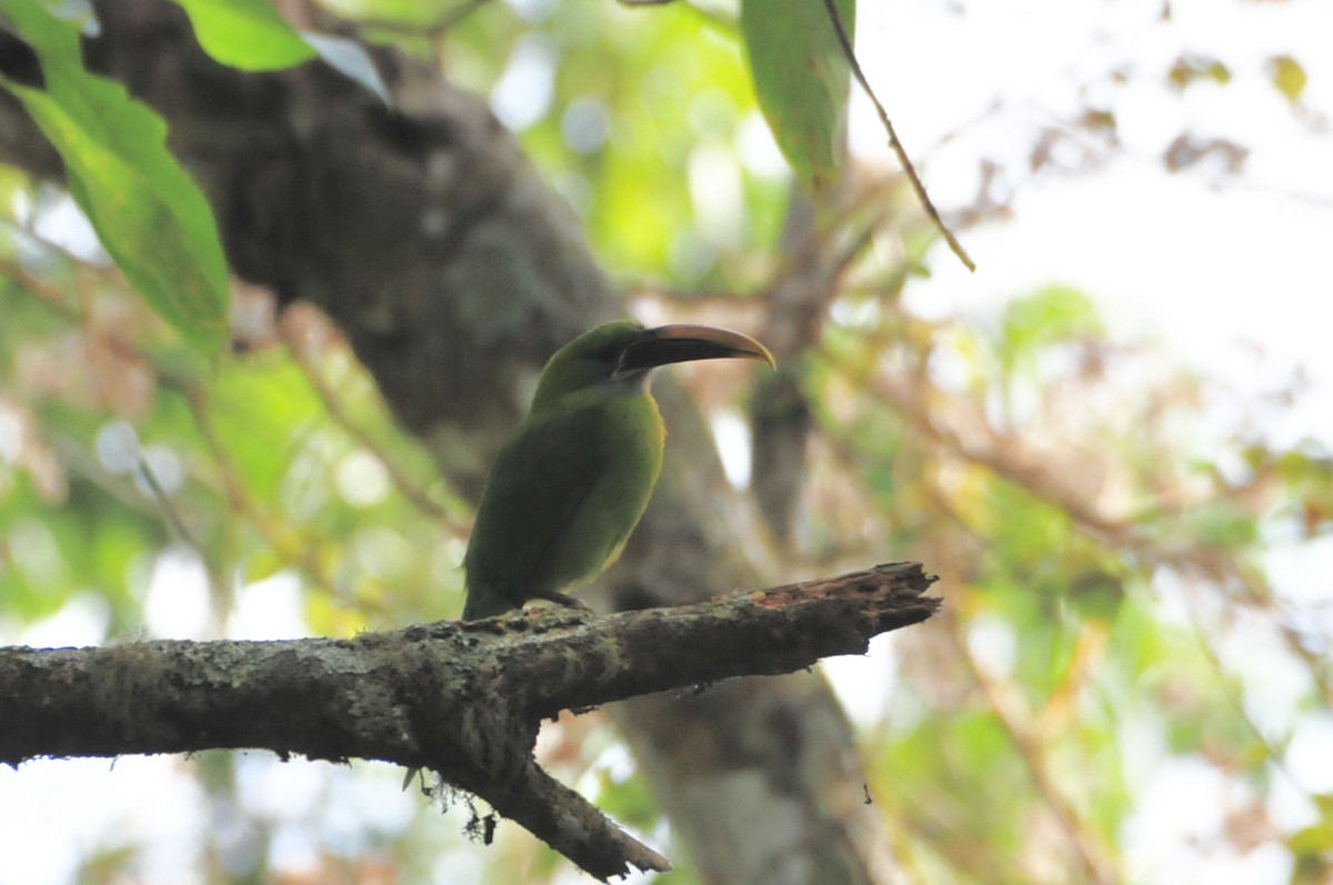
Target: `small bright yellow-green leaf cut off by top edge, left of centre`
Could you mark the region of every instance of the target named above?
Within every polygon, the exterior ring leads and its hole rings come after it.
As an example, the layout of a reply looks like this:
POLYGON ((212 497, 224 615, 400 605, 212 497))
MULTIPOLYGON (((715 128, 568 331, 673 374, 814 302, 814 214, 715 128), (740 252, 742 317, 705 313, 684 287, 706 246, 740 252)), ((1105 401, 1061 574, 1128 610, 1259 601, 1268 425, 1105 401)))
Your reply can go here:
POLYGON ((315 48, 271 0, 176 0, 195 37, 215 60, 243 71, 276 71, 309 61, 315 48))

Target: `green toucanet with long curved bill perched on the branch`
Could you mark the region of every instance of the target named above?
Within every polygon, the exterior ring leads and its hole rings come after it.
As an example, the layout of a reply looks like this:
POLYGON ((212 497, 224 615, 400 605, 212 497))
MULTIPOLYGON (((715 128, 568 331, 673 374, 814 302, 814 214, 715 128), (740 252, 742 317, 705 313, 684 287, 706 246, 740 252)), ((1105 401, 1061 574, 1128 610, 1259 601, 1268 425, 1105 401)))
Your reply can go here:
POLYGON ((565 590, 620 554, 648 506, 666 429, 648 392, 669 363, 764 360, 768 349, 706 325, 647 329, 617 320, 551 357, 528 417, 500 450, 464 556, 472 621, 528 600, 581 606, 565 590))

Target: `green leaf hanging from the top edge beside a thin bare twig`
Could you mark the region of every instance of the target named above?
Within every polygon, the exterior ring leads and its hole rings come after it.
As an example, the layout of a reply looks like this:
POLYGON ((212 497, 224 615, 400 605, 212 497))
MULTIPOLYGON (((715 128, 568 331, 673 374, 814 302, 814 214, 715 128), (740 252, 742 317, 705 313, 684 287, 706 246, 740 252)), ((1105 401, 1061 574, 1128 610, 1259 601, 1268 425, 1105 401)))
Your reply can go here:
MULTIPOLYGON (((852 40, 854 0, 836 0, 852 40)), ((760 108, 782 156, 818 189, 837 172, 834 144, 850 65, 822 0, 742 0, 741 35, 760 108)))

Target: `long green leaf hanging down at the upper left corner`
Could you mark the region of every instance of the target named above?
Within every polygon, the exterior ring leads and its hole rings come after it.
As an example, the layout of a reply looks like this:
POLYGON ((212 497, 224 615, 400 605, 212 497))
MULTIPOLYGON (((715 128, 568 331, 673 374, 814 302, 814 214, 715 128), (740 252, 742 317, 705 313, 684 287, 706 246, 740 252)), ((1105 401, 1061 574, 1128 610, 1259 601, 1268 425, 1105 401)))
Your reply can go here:
POLYGON ((83 68, 79 35, 33 0, 5 11, 45 88, 0 79, 60 153, 69 193, 152 308, 207 353, 227 337, 227 261, 208 201, 167 151, 167 124, 83 68))

